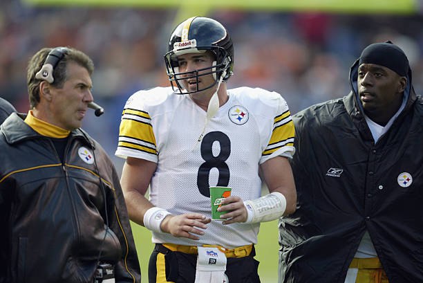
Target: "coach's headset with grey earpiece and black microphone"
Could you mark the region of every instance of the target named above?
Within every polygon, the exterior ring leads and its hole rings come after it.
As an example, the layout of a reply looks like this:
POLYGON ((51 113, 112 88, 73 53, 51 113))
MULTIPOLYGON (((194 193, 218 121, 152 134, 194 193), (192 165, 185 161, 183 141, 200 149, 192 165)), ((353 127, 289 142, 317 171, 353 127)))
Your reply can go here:
MULTIPOLYGON (((45 80, 52 84, 55 81, 53 71, 55 71, 57 64, 59 64, 60 60, 62 60, 69 51, 69 48, 62 46, 53 48, 50 53, 48 53, 46 61, 44 61, 41 69, 35 74, 35 78, 38 80, 45 80)), ((95 116, 97 117, 104 113, 104 108, 94 102, 89 102, 88 108, 94 109, 95 116)))

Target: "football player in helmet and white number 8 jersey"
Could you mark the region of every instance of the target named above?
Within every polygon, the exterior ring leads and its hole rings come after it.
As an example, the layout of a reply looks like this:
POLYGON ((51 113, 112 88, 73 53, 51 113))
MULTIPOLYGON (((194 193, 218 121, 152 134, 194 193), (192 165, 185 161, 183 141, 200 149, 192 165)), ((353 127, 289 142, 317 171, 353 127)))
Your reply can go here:
POLYGON ((288 105, 276 92, 227 89, 234 49, 214 19, 179 24, 164 61, 171 86, 131 95, 115 152, 126 158, 129 216, 156 243, 149 282, 260 282, 260 222, 291 214, 297 203, 288 105), (270 191, 263 197, 262 179, 270 191), (223 221, 211 219, 215 185, 232 188, 223 221))

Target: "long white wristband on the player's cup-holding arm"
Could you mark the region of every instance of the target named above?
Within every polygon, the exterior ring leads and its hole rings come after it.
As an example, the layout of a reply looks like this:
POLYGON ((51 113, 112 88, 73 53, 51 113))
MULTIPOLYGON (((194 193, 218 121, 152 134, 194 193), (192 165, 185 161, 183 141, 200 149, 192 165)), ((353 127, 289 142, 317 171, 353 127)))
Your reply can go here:
POLYGON ((278 219, 286 208, 286 199, 280 192, 272 192, 260 197, 244 201, 247 209, 247 220, 244 223, 259 223, 278 219))

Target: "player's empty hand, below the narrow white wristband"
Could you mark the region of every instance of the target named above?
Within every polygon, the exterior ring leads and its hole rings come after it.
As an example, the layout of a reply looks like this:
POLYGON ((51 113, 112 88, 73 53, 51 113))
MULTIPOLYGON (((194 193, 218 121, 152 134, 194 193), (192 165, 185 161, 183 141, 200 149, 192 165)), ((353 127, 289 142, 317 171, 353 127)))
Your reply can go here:
POLYGON ((204 235, 207 223, 212 219, 200 213, 185 213, 180 215, 168 215, 160 224, 163 232, 167 232, 174 237, 185 237, 188 239, 200 239, 196 235, 204 235), (203 229, 203 230, 200 230, 203 229))

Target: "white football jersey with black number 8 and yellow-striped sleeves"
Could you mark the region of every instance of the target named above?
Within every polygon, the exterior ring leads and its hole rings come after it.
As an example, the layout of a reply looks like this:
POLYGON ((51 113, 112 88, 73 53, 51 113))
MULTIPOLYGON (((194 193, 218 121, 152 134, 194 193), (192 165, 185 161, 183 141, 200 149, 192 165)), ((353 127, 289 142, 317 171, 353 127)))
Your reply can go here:
MULTIPOLYGON (((241 87, 205 126, 206 111, 189 95, 157 87, 134 93, 122 113, 116 156, 157 163, 150 201, 172 214, 211 215, 209 186, 232 187, 243 200, 261 197, 259 165, 294 154, 294 124, 279 93, 241 87)), ((195 94, 194 94, 195 95, 195 94)), ((234 248, 256 244, 259 223, 208 224, 199 241, 153 232, 154 243, 234 248)))

